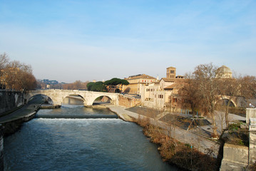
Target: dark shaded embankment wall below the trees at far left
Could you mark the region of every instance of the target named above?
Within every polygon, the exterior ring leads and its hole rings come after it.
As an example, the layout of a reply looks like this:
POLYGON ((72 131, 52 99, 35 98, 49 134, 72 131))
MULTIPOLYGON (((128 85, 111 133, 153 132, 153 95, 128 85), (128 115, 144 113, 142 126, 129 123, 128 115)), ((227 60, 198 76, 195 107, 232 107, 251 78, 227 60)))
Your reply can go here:
POLYGON ((24 93, 0 90, 0 115, 24 105, 24 93))

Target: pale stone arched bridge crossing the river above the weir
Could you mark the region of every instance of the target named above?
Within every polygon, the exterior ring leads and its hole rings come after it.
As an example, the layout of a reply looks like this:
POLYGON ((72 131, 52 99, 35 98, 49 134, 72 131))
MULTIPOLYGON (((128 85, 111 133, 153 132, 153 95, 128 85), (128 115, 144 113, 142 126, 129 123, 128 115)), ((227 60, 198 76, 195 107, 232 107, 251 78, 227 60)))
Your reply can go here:
POLYGON ((69 95, 79 95, 83 98, 84 105, 93 105, 93 101, 96 98, 101 96, 107 96, 111 99, 111 103, 113 105, 119 105, 118 103, 118 93, 105 93, 105 92, 95 92, 95 91, 87 91, 87 90, 31 90, 25 93, 24 99, 25 103, 29 101, 31 97, 34 95, 46 95, 53 101, 53 105, 61 105, 63 103, 64 98, 69 95))

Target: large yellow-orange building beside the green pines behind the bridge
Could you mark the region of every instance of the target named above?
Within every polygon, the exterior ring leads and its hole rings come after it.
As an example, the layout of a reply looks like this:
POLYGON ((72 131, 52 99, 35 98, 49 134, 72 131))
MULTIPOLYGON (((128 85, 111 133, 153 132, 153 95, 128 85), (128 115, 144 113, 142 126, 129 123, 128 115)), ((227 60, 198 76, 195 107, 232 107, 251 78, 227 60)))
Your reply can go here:
POLYGON ((125 78, 125 80, 130 84, 123 86, 124 93, 141 95, 142 86, 154 83, 156 78, 145 74, 139 74, 136 76, 129 76, 128 78, 125 78))

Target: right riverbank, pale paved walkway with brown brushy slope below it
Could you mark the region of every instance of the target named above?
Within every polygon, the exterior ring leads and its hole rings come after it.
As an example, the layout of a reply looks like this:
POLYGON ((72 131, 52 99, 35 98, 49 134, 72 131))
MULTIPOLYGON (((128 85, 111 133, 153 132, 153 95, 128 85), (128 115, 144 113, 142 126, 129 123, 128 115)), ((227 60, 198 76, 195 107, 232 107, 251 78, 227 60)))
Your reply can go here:
POLYGON ((207 140, 158 120, 162 113, 158 115, 148 113, 147 116, 146 113, 140 115, 121 106, 108 105, 107 107, 119 118, 141 125, 143 133, 158 145, 160 155, 166 162, 187 170, 217 170, 220 167, 220 160, 217 159, 220 148, 218 142, 207 140))

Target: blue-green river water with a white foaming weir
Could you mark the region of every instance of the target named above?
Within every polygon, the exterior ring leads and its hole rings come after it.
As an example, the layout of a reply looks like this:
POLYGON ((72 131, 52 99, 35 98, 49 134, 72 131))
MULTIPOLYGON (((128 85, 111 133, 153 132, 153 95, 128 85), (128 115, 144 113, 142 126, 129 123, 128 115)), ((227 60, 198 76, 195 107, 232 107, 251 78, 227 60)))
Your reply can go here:
POLYGON ((5 170, 177 170, 140 126, 115 117, 79 106, 39 110, 4 139, 5 170))

